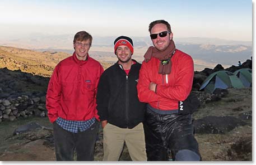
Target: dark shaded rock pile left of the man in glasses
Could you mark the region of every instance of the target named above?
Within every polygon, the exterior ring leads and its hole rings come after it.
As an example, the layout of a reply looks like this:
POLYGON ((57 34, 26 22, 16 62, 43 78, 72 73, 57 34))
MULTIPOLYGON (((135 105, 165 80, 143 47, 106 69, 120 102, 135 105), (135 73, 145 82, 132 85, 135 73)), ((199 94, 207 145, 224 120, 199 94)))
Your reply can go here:
POLYGON ((32 115, 46 117, 45 95, 49 77, 21 70, 0 69, 0 122, 32 115))

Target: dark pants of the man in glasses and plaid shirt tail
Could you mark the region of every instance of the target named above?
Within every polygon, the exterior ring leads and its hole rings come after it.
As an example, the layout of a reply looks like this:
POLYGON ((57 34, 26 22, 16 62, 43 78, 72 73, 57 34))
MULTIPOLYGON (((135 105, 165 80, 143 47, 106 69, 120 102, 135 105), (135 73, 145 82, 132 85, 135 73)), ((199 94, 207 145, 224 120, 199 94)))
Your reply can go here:
POLYGON ((84 132, 72 133, 53 123, 53 136, 57 161, 73 161, 76 149, 77 161, 94 161, 94 147, 99 130, 95 122, 84 132))

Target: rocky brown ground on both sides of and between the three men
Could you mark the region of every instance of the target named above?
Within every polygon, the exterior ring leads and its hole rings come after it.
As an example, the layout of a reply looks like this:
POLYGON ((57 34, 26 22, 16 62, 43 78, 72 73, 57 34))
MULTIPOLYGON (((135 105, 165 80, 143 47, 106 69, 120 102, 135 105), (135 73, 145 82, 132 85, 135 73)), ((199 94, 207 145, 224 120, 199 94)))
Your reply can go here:
MULTIPOLYGON (((193 119, 202 161, 252 161, 252 88, 225 91, 218 101, 201 104, 193 119)), ((55 160, 52 124, 47 118, 3 122, 0 137, 1 161, 55 160), (25 131, 21 125, 29 123, 25 131)), ((100 129, 95 161, 102 158, 100 129)), ((120 161, 131 161, 127 148, 120 161)))

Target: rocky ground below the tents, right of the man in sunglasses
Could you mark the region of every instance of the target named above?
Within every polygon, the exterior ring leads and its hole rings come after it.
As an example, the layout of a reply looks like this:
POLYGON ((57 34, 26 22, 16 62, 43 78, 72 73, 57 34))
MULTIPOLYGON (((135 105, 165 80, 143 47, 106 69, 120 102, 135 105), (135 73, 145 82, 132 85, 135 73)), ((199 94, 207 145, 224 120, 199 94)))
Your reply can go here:
POLYGON ((229 89, 193 115, 203 161, 252 161, 252 88, 229 89))

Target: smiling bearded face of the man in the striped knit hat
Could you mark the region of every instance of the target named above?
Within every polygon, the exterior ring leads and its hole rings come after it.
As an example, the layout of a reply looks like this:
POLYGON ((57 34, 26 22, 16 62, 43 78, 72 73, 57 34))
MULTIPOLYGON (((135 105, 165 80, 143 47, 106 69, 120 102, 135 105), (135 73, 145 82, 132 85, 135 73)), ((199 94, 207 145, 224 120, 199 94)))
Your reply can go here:
POLYGON ((127 63, 132 60, 132 52, 128 46, 120 45, 115 51, 119 64, 127 63))

